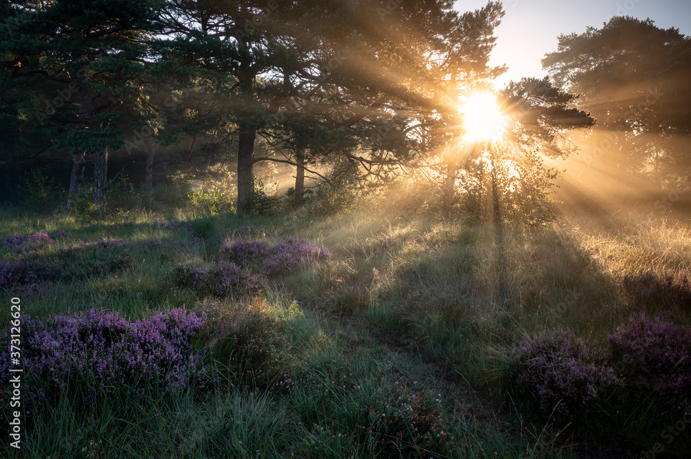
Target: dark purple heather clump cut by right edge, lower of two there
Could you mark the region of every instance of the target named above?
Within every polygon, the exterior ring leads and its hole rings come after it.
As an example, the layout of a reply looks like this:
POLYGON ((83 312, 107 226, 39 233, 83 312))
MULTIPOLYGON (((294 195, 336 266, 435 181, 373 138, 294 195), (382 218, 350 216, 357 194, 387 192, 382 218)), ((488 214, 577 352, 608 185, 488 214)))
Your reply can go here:
POLYGON ((691 396, 691 329, 659 315, 634 315, 609 335, 612 360, 634 395, 654 394, 664 408, 691 396))

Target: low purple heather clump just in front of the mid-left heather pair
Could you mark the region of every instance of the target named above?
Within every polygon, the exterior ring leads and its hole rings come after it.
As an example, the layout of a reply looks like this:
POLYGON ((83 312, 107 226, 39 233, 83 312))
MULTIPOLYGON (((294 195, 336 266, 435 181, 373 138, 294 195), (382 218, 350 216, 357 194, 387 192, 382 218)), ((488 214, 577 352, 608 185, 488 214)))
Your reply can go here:
POLYGON ((207 268, 182 264, 173 275, 180 286, 216 296, 256 295, 265 287, 263 278, 232 262, 219 261, 207 268))

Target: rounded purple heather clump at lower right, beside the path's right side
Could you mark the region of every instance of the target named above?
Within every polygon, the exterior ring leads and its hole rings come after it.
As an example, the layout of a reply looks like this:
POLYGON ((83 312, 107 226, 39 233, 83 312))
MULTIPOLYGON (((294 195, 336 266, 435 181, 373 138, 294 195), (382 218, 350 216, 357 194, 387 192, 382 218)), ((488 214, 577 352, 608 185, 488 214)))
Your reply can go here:
POLYGON ((515 389, 553 418, 574 416, 598 396, 598 389, 621 385, 614 371, 605 367, 607 355, 568 329, 526 338, 509 357, 515 389))

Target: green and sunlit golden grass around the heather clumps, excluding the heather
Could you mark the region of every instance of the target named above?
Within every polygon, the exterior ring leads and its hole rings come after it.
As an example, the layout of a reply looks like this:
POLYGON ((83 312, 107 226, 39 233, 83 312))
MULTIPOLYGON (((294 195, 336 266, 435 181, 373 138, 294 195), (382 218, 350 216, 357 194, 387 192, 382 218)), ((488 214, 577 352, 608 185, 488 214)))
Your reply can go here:
MULTIPOLYGON (((622 288, 624 275, 681 272, 691 260, 688 224, 637 224, 634 216, 604 223, 562 218, 532 231, 371 208, 333 217, 193 217, 176 211, 128 218, 131 224, 82 226, 70 217, 0 214, 0 240, 67 232, 34 253, 2 253, 69 260, 69 275, 44 293, 21 297, 22 312, 45 317, 104 308, 136 319, 183 305, 191 309, 202 295, 176 286, 174 268, 211 264, 223 244, 246 234, 269 244, 305 237, 332 256, 272 277, 254 300, 217 300, 226 309, 249 301, 285 337, 267 384, 235 375, 211 392, 122 395, 95 411, 75 406, 65 394, 55 406, 23 414, 23 457, 583 457, 593 451, 584 446, 590 438, 540 421, 507 396, 506 349, 555 326, 604 342, 636 312, 622 288), (189 220, 191 231, 152 225, 165 217, 189 220), (113 255, 79 243, 101 240, 125 245, 113 255), (121 255, 122 266, 94 270, 95 262, 121 255), (272 389, 276 384, 283 389, 272 389), (419 397, 438 394, 426 403, 453 436, 446 449, 401 450, 396 435, 410 432, 392 434, 383 418, 368 415, 408 390, 419 397)), ((0 311, 3 324, 9 312, 0 311)), ((673 312, 687 323, 691 318, 691 311, 673 312)), ((2 411, 7 428, 8 409, 2 411)), ((597 426, 591 438, 610 429, 632 441, 636 433, 635 451, 621 451, 623 458, 661 442, 654 418, 641 410, 631 416, 627 425, 597 426)), ((675 451, 689 444, 689 431, 665 445, 668 457, 681 457, 675 451)), ((6 444, 0 450, 3 457, 20 457, 6 444)))

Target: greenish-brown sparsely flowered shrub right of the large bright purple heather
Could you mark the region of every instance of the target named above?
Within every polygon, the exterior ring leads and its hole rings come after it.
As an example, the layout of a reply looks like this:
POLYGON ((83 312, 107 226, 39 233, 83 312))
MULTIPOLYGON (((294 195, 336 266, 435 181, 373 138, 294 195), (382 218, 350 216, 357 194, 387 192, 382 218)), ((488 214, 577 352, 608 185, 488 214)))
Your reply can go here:
POLYGON ((227 371, 231 379, 249 378, 252 384, 267 384, 279 369, 280 349, 287 346, 287 336, 278 322, 260 304, 223 304, 207 302, 207 323, 202 335, 206 350, 227 371))

